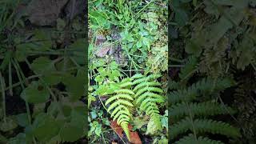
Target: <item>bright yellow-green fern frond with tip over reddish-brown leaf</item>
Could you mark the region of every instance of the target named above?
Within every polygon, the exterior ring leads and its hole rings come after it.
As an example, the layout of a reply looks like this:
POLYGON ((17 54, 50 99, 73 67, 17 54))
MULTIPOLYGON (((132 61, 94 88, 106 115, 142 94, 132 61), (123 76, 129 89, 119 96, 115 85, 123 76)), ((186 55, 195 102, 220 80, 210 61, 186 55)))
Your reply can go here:
POLYGON ((127 89, 127 87, 130 87, 132 82, 130 78, 124 78, 118 84, 120 88, 118 90, 114 90, 114 95, 106 100, 105 106, 108 106, 107 112, 111 114, 111 118, 113 118, 113 120, 117 120, 118 125, 122 127, 127 138, 130 140, 128 124, 132 114, 130 114, 129 108, 134 106, 132 104, 134 101, 134 92, 127 89))

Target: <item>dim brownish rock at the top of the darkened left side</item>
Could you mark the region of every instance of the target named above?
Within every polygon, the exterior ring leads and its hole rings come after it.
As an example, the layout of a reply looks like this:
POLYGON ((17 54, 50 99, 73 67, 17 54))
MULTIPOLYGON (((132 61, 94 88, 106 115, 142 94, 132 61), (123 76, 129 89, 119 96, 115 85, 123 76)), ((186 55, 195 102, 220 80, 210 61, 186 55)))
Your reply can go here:
POLYGON ((30 22, 36 26, 53 26, 67 1, 32 0, 27 7, 30 22))

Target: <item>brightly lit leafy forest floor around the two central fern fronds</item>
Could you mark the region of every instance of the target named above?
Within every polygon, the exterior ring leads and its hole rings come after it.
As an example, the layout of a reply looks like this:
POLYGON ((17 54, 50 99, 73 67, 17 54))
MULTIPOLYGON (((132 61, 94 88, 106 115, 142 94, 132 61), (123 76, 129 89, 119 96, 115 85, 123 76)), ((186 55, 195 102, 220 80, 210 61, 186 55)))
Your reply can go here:
MULTIPOLYGON (((108 99, 114 98, 114 91, 119 89, 118 86, 122 86, 119 81, 132 81, 135 74, 161 74, 161 78, 155 78, 153 81, 161 83, 161 97, 166 98, 166 2, 90 1, 89 27, 90 142, 167 143, 166 101, 159 100, 160 103, 156 105, 156 110, 159 106, 156 113, 159 122, 156 120, 154 123, 153 118, 146 115, 147 113, 135 103, 134 96, 131 96, 134 106, 128 108, 131 114, 128 121, 128 137, 126 130, 123 130, 125 128, 113 121, 110 116, 112 112, 107 110, 109 107, 105 104, 108 99)), ((128 86, 127 89, 133 90, 133 87, 128 86)), ((123 115, 125 117, 125 114, 123 115)))

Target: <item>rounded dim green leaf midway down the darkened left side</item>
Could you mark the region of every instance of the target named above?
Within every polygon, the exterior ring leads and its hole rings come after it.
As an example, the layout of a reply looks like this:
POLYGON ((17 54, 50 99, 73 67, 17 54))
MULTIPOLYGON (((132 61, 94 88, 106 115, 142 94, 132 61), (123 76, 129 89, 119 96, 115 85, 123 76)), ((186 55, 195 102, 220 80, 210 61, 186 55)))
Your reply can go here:
POLYGON ((21 94, 22 99, 30 103, 42 103, 46 102, 50 98, 46 86, 43 86, 42 83, 33 81, 21 94))

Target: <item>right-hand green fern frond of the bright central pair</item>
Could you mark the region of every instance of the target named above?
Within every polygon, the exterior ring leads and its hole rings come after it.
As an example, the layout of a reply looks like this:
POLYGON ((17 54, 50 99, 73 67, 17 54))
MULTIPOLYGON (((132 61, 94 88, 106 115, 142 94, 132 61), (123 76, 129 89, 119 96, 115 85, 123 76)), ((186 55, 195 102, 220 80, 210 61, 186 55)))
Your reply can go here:
POLYGON ((161 84, 155 81, 159 77, 160 75, 158 74, 151 74, 149 76, 135 74, 132 77, 135 104, 139 106, 140 110, 150 116, 148 130, 152 123, 154 123, 157 130, 162 130, 158 103, 165 102, 165 98, 161 95, 163 90, 158 87, 161 84))

